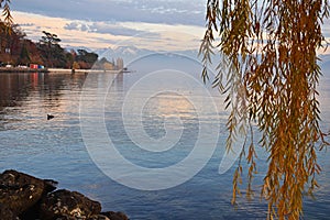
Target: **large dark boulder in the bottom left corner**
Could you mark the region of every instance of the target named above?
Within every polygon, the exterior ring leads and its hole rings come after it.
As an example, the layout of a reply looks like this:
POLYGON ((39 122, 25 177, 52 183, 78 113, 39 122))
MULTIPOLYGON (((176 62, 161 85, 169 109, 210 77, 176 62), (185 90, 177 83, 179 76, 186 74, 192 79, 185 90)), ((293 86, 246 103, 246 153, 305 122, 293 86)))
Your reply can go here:
MULTIPOLYGON (((54 190, 56 182, 43 180, 16 170, 6 170, 0 174, 1 212, 8 212, 14 218, 29 212, 37 206, 41 198, 54 190)), ((32 211, 32 215, 36 211, 32 211)), ((32 218, 32 217, 31 217, 32 218)), ((1 219, 12 219, 2 217, 1 219)))

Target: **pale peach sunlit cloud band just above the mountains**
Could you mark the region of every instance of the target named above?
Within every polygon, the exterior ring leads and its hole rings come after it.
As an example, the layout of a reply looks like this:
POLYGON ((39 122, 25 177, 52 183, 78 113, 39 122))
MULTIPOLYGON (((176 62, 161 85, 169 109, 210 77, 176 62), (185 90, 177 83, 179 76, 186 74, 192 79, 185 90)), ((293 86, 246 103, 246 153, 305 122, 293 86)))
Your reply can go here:
POLYGON ((68 20, 18 11, 13 16, 29 38, 38 41, 42 32, 47 31, 57 34, 66 47, 134 45, 153 51, 196 50, 204 31, 194 25, 68 20))

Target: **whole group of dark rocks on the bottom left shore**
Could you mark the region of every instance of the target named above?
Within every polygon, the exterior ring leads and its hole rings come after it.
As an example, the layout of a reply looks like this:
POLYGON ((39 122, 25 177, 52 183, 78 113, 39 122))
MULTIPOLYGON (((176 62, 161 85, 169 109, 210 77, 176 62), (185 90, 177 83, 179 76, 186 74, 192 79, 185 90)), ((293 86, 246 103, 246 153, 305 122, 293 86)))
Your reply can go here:
POLYGON ((122 212, 101 211, 101 205, 80 193, 55 190, 57 182, 16 170, 0 174, 1 220, 128 220, 122 212))

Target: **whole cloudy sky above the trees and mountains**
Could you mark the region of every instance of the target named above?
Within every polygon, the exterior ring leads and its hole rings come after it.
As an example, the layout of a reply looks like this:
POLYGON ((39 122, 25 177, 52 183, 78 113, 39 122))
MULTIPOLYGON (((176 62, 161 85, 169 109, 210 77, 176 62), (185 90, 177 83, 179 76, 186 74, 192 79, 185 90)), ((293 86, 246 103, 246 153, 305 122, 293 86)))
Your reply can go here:
MULTIPOLYGON (((207 0, 12 0, 14 22, 29 38, 57 34, 64 47, 134 45, 153 51, 197 50, 207 0)), ((330 42, 330 20, 323 33, 330 42)), ((330 53, 330 48, 327 52, 330 53)))

